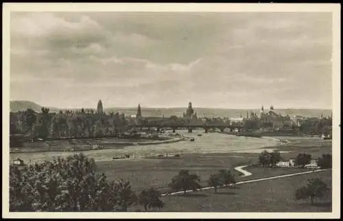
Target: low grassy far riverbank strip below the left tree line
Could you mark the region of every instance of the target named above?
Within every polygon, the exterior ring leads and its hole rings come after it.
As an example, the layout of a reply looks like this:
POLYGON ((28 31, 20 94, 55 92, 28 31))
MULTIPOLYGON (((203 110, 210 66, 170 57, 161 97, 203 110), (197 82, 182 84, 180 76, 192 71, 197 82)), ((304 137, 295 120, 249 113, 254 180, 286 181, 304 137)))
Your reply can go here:
MULTIPOLYGON (((175 143, 184 140, 184 137, 161 137, 161 140, 150 140, 150 139, 136 139, 126 141, 113 141, 114 139, 83 139, 82 142, 75 142, 71 144, 69 141, 46 141, 42 143, 32 143, 32 148, 12 148, 10 153, 40 153, 40 152, 77 152, 87 150, 99 150, 94 148, 95 144, 101 146, 103 149, 123 149, 126 146, 145 146, 145 145, 156 145, 162 143, 175 143), (142 141, 143 140, 143 141, 142 141), (86 144, 85 144, 86 143, 86 144), (36 144, 36 146, 35 146, 36 144)), ((73 141, 78 141, 74 139, 73 141)))

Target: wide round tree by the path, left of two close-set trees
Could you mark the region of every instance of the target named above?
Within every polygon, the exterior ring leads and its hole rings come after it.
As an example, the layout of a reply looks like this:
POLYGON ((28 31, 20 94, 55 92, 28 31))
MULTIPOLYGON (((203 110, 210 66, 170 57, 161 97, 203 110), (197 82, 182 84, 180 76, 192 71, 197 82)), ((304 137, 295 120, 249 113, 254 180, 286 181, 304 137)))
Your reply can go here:
POLYGON ((189 174, 188 170, 180 170, 178 172, 178 175, 174 176, 171 179, 171 183, 169 183, 169 187, 173 190, 180 190, 184 191, 186 194, 186 191, 189 189, 192 189, 193 191, 196 191, 196 189, 199 189, 200 186, 200 177, 196 174, 189 174))

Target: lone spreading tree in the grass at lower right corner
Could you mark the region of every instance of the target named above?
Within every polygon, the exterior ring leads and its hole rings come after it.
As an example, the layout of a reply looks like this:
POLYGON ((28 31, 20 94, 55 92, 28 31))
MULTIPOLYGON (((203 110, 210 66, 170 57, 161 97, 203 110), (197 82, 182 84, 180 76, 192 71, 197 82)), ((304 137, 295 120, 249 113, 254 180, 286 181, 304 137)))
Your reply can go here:
POLYGON ((296 189, 296 200, 311 199, 311 204, 314 204, 314 198, 323 198, 329 190, 327 184, 320 178, 310 178, 306 187, 296 189))

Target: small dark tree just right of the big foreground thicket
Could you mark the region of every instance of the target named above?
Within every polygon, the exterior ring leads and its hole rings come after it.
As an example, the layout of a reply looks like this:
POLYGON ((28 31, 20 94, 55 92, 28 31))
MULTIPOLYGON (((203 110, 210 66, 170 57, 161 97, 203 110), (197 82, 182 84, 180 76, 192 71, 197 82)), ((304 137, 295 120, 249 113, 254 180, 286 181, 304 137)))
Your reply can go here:
POLYGON ((138 196, 139 205, 142 205, 145 211, 147 211, 147 208, 162 208, 164 203, 160 200, 160 196, 161 193, 153 187, 147 190, 142 190, 138 196))

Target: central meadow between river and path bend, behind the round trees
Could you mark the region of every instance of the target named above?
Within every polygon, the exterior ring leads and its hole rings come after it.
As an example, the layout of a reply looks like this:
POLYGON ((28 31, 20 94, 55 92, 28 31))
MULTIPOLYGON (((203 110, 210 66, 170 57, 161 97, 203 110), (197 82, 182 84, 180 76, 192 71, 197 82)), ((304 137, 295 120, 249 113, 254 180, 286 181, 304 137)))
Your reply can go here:
MULTIPOLYGON (((189 170, 202 179, 207 179, 221 169, 232 169, 241 158, 198 158, 196 154, 187 154, 181 159, 129 159, 97 162, 97 172, 104 172, 110 180, 128 179, 132 189, 141 190, 149 187, 167 187, 171 178, 180 170, 189 170)), ((246 159, 244 159, 246 161, 246 159)), ((164 188, 163 188, 164 189, 164 188)), ((163 191, 161 189, 161 191, 163 191)))

